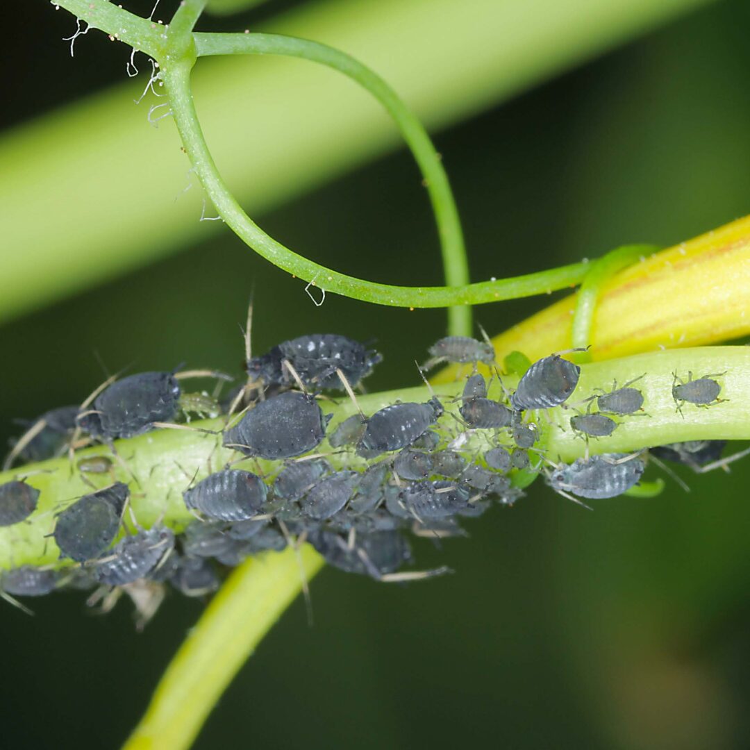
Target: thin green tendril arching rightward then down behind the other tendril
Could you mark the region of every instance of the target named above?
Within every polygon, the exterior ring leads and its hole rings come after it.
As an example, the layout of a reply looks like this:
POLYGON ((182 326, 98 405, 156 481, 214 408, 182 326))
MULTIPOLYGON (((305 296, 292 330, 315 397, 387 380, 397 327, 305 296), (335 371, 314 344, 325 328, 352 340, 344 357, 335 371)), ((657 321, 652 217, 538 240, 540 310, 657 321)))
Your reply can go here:
MULTIPOLYGON (((199 57, 253 54, 302 58, 326 65, 370 92, 395 121, 422 171, 440 237, 446 285, 461 287, 469 283, 469 264, 458 208, 440 155, 419 119, 380 76, 345 52, 307 39, 281 34, 194 34, 193 38, 199 57)), ((448 315, 452 335, 471 334, 470 308, 449 308, 448 315)))

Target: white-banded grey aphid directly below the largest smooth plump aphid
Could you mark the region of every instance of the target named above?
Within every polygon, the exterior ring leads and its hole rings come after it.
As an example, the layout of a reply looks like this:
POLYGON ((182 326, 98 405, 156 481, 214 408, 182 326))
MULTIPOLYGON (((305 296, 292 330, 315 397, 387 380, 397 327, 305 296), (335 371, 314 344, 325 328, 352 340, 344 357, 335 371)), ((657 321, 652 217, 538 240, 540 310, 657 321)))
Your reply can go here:
POLYGON ((259 476, 242 469, 223 469, 182 493, 187 508, 217 520, 245 520, 260 511, 268 487, 259 476))

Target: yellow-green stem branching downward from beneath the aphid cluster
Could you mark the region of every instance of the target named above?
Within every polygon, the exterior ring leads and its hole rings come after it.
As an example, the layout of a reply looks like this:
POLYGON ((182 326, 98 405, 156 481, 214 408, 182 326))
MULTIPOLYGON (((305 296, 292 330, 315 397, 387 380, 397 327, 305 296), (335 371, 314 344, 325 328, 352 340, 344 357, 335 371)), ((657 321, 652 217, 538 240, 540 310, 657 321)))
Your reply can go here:
POLYGON ((124 750, 188 748, 263 636, 323 566, 305 544, 248 559, 229 576, 184 640, 124 750))

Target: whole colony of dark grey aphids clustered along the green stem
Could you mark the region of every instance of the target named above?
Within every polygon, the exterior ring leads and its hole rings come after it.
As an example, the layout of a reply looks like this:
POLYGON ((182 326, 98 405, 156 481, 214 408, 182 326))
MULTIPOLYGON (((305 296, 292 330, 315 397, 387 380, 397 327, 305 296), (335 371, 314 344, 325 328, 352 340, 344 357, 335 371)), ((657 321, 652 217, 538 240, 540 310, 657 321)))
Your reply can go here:
MULTIPOLYGON (((544 410, 566 404, 578 383, 580 368, 559 354, 523 365, 516 353, 512 363, 520 362, 513 367, 521 368, 521 377, 513 393, 505 391, 487 342, 448 337, 430 354, 427 366, 474 364, 454 400, 458 414, 446 412, 448 402, 433 394, 423 403, 396 402, 369 416, 357 407, 358 413, 329 428, 326 401, 318 397, 346 391, 356 406, 353 389, 381 361, 379 353, 330 334, 284 341, 255 358, 248 353, 248 386, 225 402, 229 414, 221 435, 223 447, 237 460, 185 488, 184 505, 196 520, 177 535, 163 523, 151 529, 135 523, 135 532, 124 528, 131 490, 114 481, 113 467, 123 459, 113 441, 169 426, 180 410, 215 416, 218 399, 183 394, 181 380, 220 374, 137 374, 108 381, 81 407, 43 414, 15 443, 6 466, 17 458, 43 460, 98 442, 110 446, 115 463, 99 456, 79 460, 75 468, 89 484, 86 477, 95 474, 109 473, 113 481, 55 514, 52 540, 60 559, 73 564, 5 571, 0 593, 7 598, 96 588, 97 600, 124 591, 136 602, 144 592, 160 601, 169 583, 185 595, 204 595, 217 588, 226 567, 302 541, 344 571, 412 580, 445 568, 399 572, 411 559, 407 532, 428 538, 460 535, 462 517, 482 514, 493 501, 512 505, 522 496, 519 485, 529 483, 529 472, 544 475, 554 490, 576 502, 614 497, 639 481, 642 455, 594 455, 565 464, 535 448, 545 428, 544 410), (489 380, 476 371, 478 362, 492 366, 489 380), (495 379, 502 398, 488 396, 495 379), (241 402, 248 407, 233 415, 241 402), (260 475, 256 459, 278 462, 275 472, 260 475), (257 470, 235 468, 238 461, 257 470)), ((676 408, 721 401, 713 377, 692 380, 688 374, 683 382, 674 374, 676 408)), ((569 419, 571 429, 585 440, 597 439, 612 434, 622 419, 642 414, 643 394, 633 387, 637 380, 620 388, 614 383, 609 392, 587 399, 586 412, 569 419)), ((718 460, 723 445, 684 443, 654 453, 700 470, 718 460)), ((23 523, 39 496, 23 475, 1 484, 0 526, 23 523)))

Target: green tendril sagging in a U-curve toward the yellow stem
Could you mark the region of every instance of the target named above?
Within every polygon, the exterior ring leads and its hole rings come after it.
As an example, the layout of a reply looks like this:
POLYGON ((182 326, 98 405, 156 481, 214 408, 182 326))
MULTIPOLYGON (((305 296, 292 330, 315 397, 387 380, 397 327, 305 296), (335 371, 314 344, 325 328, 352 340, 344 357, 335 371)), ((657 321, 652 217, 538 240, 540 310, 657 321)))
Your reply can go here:
MULTIPOLYGON (((200 38, 199 34, 194 34, 200 38)), ((242 34, 242 38, 252 34, 242 34)), ((205 47, 203 48, 205 51, 205 47)), ((579 284, 588 271, 587 263, 573 263, 559 269, 500 281, 485 281, 458 287, 397 287, 375 284, 320 266, 289 250, 257 226, 236 201, 223 181, 208 150, 190 92, 190 64, 176 62, 162 66, 175 123, 182 142, 205 192, 223 220, 257 253, 275 266, 320 287, 362 302, 404 308, 445 308, 454 305, 481 305, 504 299, 549 293, 579 284)))

